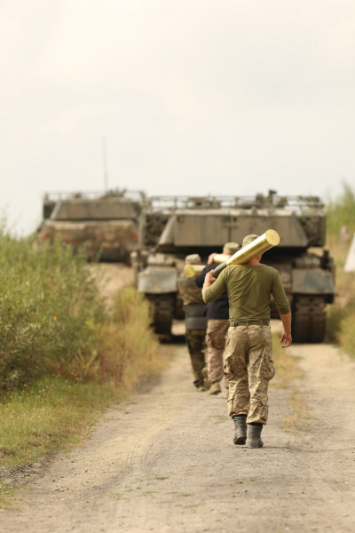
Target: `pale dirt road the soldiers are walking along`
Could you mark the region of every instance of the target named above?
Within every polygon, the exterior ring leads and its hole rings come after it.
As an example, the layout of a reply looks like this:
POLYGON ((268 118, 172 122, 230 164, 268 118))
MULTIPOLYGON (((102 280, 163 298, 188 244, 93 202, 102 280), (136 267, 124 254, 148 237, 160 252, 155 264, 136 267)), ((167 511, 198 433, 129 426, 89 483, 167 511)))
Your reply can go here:
POLYGON ((2 532, 352 532, 355 364, 295 346, 304 378, 271 387, 264 449, 233 445, 225 399, 197 393, 185 346, 149 393, 30 485, 2 532))

